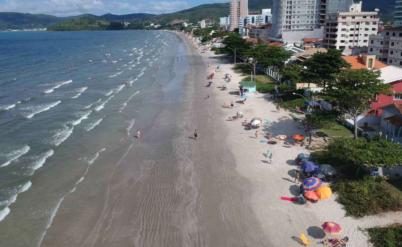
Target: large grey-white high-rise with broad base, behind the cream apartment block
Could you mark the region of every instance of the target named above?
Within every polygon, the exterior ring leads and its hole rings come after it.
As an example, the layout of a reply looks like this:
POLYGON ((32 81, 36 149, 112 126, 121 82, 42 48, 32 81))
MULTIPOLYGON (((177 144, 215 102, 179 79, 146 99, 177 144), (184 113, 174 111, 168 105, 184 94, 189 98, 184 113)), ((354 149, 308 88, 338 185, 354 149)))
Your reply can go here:
POLYGON ((300 42, 322 37, 325 15, 346 12, 352 0, 274 0, 271 37, 300 42))

